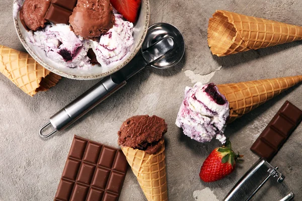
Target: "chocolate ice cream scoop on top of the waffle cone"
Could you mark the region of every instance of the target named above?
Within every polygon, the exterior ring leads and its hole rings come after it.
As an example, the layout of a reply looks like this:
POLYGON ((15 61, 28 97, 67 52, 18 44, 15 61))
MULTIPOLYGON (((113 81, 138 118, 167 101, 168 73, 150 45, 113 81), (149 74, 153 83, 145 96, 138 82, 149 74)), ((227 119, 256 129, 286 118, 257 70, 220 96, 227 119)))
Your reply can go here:
POLYGON ((161 147, 159 141, 167 133, 165 120, 157 116, 134 116, 127 119, 118 132, 118 144, 154 154, 161 147))

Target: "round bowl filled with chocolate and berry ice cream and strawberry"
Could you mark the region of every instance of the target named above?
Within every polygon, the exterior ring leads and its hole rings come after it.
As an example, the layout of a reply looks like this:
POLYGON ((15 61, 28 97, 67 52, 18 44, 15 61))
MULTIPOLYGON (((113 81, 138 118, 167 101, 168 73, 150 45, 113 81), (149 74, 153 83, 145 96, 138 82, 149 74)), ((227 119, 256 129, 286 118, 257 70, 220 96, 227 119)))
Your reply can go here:
POLYGON ((14 23, 28 53, 72 79, 97 79, 125 66, 141 49, 148 0, 14 0, 14 23))

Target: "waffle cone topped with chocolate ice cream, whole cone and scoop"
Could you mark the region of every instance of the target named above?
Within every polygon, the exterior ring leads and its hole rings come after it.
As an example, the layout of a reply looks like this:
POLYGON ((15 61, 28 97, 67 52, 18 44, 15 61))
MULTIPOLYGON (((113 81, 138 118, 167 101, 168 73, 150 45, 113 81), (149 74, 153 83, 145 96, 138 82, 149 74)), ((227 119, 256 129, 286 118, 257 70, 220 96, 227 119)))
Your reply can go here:
POLYGON ((148 201, 168 200, 162 118, 134 116, 121 126, 119 144, 148 201))

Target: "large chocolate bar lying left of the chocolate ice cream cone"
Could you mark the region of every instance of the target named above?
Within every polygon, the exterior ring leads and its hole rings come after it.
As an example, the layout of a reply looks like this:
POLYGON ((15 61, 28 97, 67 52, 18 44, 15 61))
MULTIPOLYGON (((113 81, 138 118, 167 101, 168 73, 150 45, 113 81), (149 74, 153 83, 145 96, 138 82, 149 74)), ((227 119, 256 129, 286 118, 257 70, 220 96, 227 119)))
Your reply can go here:
POLYGON ((117 201, 127 168, 120 149, 74 136, 54 200, 117 201))

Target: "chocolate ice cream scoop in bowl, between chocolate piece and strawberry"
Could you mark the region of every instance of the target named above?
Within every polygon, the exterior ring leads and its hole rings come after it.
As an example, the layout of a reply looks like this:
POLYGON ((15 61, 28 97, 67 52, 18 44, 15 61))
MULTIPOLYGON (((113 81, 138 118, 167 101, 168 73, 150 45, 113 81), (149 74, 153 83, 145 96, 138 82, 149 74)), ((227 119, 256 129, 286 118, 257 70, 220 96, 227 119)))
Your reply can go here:
POLYGON ((109 0, 78 0, 69 17, 74 33, 86 39, 105 34, 113 27, 114 20, 109 0))

